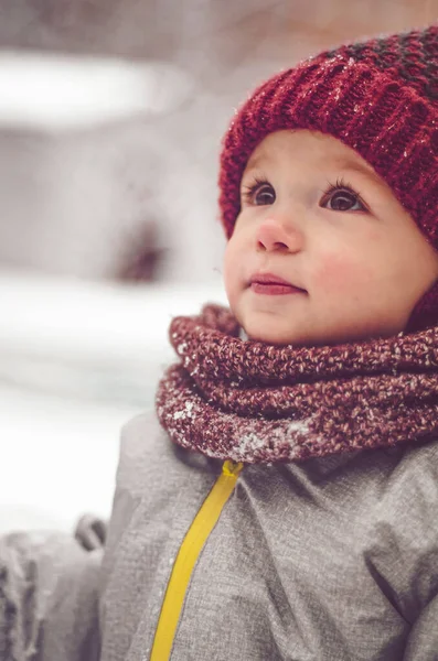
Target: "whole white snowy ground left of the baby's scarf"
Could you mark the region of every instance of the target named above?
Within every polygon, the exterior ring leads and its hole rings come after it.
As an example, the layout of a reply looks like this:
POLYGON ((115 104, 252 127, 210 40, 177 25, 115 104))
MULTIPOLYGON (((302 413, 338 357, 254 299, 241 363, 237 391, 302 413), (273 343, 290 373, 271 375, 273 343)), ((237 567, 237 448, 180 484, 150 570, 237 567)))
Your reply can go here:
POLYGON ((119 431, 153 405, 175 314, 221 285, 111 285, 0 272, 0 532, 108 517, 119 431))

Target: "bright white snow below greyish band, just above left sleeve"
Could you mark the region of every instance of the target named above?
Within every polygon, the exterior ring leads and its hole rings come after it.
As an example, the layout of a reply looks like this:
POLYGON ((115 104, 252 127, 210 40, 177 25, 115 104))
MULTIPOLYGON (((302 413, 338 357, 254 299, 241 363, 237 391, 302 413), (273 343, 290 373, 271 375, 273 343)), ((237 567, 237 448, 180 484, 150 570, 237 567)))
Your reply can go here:
POLYGON ((0 388, 0 531, 109 516, 121 425, 139 408, 0 388))

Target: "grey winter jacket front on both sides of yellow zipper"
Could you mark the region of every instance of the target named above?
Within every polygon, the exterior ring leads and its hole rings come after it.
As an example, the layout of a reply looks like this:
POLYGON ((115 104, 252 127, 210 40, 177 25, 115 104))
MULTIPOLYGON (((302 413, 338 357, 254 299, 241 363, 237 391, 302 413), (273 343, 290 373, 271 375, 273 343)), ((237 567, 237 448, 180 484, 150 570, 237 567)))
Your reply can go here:
MULTIPOLYGON (((124 430, 102 661, 150 658, 172 565, 220 473, 153 414, 124 430)), ((438 660, 438 443, 245 467, 197 557, 170 658, 438 660)))

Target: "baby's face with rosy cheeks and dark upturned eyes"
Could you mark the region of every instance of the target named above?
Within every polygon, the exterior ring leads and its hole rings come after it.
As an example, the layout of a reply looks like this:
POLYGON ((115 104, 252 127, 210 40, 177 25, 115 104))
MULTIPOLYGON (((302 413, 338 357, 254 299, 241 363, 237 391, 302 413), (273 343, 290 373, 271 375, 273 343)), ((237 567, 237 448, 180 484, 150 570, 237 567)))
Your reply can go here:
POLYGON ((322 133, 270 133, 243 175, 224 260, 229 306, 252 339, 321 345, 403 330, 438 254, 387 184, 322 133), (263 284, 277 277, 291 286, 263 284))

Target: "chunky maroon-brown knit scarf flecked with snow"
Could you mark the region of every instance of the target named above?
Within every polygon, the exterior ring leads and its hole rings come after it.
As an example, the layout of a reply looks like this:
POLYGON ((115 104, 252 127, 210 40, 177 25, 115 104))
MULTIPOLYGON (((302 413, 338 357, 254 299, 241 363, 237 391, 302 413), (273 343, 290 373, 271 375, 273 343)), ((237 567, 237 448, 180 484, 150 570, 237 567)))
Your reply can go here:
POLYGON ((290 462, 431 437, 438 327, 322 347, 239 339, 231 312, 175 317, 180 362, 157 392, 174 443, 218 459, 290 462))

